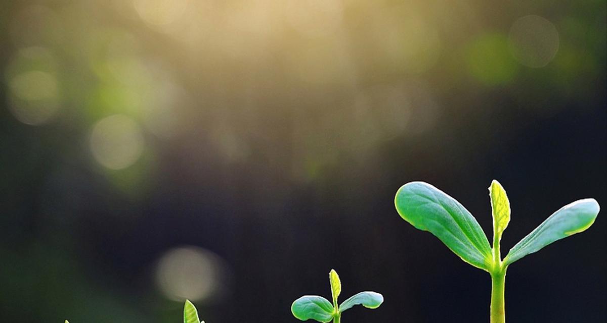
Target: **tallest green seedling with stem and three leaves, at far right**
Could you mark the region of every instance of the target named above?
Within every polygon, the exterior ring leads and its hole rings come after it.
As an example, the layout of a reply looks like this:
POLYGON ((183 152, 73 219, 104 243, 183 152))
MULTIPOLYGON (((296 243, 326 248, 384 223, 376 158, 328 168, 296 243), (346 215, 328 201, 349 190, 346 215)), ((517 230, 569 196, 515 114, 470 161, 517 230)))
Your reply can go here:
POLYGON ((498 181, 489 187, 493 214, 493 248, 476 219, 463 205, 424 182, 410 182, 396 192, 399 215, 419 230, 430 231, 463 261, 491 275, 491 323, 506 322, 504 283, 506 268, 518 259, 559 239, 589 228, 599 214, 595 199, 580 199, 561 207, 529 235, 500 256, 501 235, 510 222, 510 202, 498 181))

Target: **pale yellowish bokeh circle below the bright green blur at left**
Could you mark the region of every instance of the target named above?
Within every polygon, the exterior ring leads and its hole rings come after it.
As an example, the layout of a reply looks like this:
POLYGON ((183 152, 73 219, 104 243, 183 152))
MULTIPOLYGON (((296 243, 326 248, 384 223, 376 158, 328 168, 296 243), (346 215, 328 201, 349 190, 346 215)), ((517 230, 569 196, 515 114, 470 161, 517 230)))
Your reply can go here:
POLYGON ((141 156, 143 146, 139 125, 124 115, 101 119, 90 135, 90 150, 95 160, 114 170, 134 164, 141 156))

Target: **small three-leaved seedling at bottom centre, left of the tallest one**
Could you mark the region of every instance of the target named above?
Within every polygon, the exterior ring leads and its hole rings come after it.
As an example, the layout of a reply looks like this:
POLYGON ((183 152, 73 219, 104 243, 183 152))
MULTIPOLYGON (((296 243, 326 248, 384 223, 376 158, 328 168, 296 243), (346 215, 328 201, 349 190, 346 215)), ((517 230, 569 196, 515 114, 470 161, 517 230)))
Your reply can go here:
POLYGON ((354 305, 362 305, 367 308, 378 308, 384 302, 384 296, 375 291, 361 291, 360 293, 346 299, 339 306, 337 305, 337 296, 341 294, 341 281, 336 271, 331 269, 329 273, 329 282, 331 283, 331 296, 333 304, 321 296, 302 296, 291 305, 291 312, 296 318, 307 321, 313 319, 319 322, 340 323, 342 313, 354 305))

